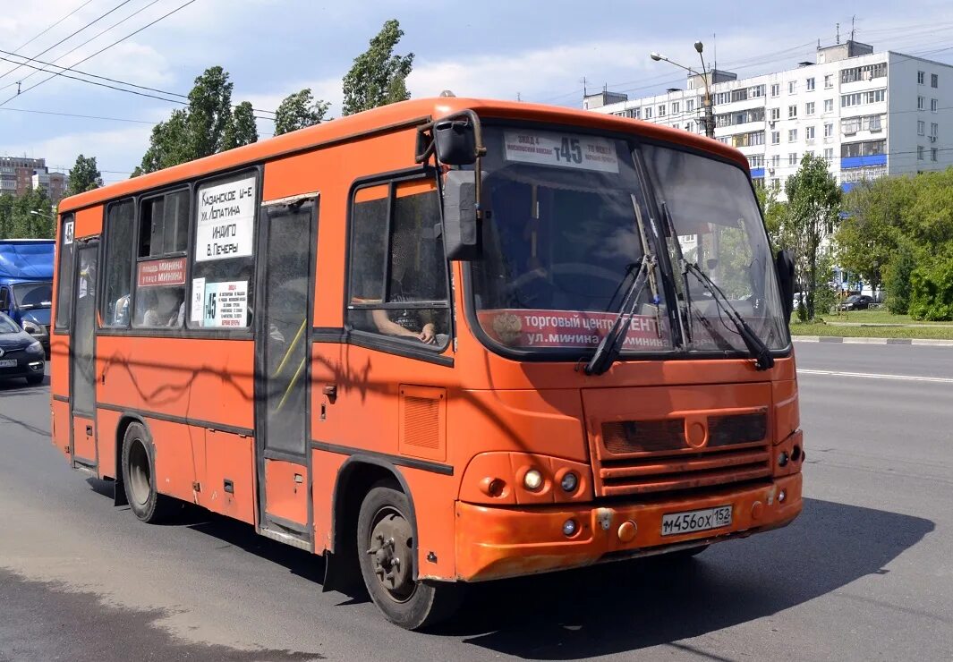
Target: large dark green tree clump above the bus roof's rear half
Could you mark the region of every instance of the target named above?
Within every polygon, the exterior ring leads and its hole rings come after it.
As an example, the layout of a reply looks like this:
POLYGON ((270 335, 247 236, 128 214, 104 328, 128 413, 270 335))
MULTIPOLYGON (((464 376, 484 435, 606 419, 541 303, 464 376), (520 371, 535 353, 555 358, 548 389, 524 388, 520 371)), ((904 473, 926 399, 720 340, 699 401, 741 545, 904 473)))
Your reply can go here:
POLYGON ((255 142, 252 105, 245 102, 233 110, 232 89, 229 74, 221 67, 195 78, 189 106, 172 110, 168 120, 152 128, 149 149, 132 176, 255 142))

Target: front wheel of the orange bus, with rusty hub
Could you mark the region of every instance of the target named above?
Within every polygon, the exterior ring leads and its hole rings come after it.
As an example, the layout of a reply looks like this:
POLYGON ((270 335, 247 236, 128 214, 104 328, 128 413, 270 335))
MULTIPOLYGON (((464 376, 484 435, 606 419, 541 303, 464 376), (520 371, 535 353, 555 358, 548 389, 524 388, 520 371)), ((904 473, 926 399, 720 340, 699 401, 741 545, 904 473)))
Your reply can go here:
POLYGON ((360 572, 377 608, 387 620, 406 630, 420 630, 449 619, 462 596, 461 587, 456 584, 414 580, 414 531, 407 495, 395 490, 391 483, 377 483, 364 497, 357 516, 360 572), (375 532, 388 531, 402 534, 391 536, 389 545, 384 539, 375 539, 375 532), (406 561, 406 565, 400 561, 406 561), (388 579, 390 574, 395 577, 388 579))

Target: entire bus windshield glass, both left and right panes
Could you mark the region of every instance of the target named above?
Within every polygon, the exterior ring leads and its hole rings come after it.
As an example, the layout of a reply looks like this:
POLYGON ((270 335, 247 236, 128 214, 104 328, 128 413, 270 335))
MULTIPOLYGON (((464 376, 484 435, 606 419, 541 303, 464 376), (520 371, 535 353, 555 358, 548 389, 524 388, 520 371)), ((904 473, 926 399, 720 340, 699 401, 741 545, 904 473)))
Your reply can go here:
POLYGON ((670 260, 658 260, 650 287, 626 318, 622 353, 679 345, 747 351, 725 304, 769 349, 786 347, 773 260, 740 168, 571 130, 491 126, 484 140, 490 213, 483 258, 473 263, 472 276, 477 321, 492 342, 520 351, 594 349, 615 321, 643 255, 658 245, 670 260), (639 153, 651 191, 639 179, 639 153), (652 209, 663 218, 654 218, 652 209), (673 226, 678 246, 664 239, 673 226), (658 244, 657 236, 663 238, 658 244), (682 275, 686 263, 701 276, 682 275), (666 299, 666 290, 677 303, 666 299))

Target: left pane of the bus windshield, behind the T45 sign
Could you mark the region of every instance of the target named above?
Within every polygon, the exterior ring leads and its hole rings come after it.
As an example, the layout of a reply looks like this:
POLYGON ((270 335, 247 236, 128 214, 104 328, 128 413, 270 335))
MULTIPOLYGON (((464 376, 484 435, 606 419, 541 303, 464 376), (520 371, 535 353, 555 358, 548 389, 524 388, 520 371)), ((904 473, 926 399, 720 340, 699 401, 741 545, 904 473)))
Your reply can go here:
MULTIPOLYGON (((572 132, 484 131, 484 256, 473 263, 483 331, 518 350, 592 350, 652 251, 646 194, 623 140, 572 132)), ((658 272, 622 351, 673 349, 658 272)))

